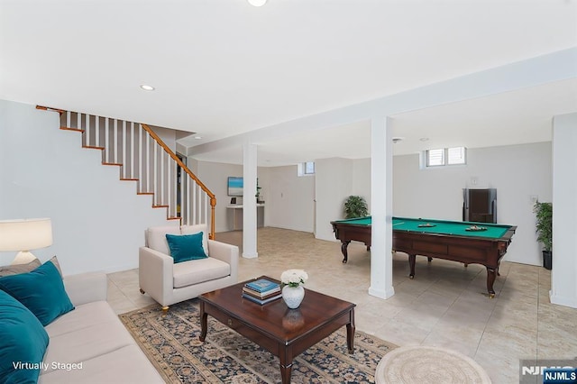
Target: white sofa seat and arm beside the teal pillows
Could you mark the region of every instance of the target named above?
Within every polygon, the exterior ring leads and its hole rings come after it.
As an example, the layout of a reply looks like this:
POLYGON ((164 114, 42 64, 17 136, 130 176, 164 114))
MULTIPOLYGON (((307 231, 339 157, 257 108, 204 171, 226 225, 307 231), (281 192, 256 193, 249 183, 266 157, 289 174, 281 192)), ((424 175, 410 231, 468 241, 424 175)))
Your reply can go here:
POLYGON ((163 383, 111 306, 104 273, 66 277, 76 307, 45 327, 50 336, 39 383, 163 383))

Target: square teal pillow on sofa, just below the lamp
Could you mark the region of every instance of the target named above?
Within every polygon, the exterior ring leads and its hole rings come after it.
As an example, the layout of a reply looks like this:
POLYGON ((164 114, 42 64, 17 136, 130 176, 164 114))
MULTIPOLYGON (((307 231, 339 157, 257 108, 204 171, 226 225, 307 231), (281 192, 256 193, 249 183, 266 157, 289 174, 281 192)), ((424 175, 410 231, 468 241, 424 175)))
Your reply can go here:
POLYGON ((28 273, 0 278, 0 289, 30 309, 44 326, 74 309, 51 261, 28 273))

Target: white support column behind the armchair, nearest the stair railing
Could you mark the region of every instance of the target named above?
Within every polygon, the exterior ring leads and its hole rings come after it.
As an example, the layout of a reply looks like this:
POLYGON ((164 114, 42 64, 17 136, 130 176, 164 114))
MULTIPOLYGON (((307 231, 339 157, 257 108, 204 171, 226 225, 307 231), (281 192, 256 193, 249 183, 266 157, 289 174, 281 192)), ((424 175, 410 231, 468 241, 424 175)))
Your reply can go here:
POLYGON ((257 146, 243 146, 243 258, 259 257, 256 251, 257 146))

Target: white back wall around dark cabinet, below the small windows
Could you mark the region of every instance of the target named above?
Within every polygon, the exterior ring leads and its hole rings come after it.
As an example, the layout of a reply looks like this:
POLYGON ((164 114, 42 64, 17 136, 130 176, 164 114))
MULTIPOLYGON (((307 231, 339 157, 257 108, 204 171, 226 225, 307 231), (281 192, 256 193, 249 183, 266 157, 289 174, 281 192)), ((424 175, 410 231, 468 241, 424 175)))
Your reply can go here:
POLYGON ((472 149, 467 156, 467 166, 439 169, 419 169, 418 155, 396 156, 394 215, 461 220, 464 187, 497 188, 498 222, 517 225, 504 260, 542 265, 531 197, 552 200, 551 142, 472 149))

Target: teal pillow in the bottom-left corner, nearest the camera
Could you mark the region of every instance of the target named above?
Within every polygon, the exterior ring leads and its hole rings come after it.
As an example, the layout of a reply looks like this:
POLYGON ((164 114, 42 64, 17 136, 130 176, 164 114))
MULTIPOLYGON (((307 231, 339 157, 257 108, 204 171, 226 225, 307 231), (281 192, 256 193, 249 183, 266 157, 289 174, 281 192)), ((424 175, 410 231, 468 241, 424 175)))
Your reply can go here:
POLYGON ((36 383, 48 343, 36 316, 0 290, 0 382, 36 383))

